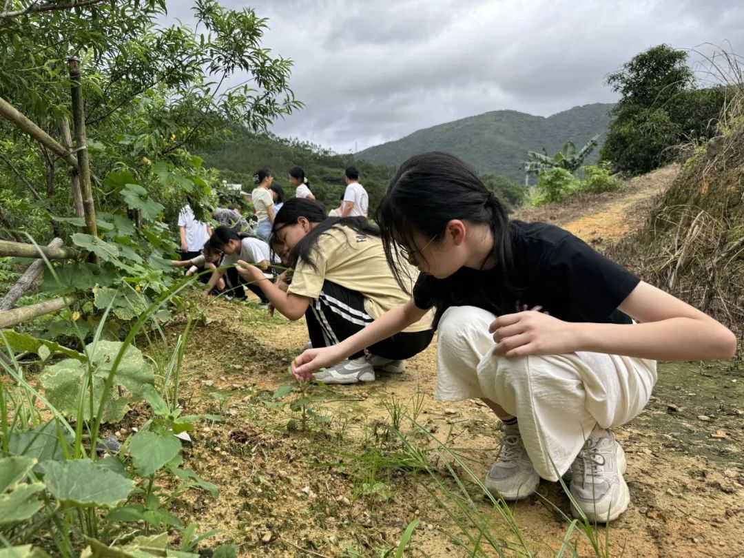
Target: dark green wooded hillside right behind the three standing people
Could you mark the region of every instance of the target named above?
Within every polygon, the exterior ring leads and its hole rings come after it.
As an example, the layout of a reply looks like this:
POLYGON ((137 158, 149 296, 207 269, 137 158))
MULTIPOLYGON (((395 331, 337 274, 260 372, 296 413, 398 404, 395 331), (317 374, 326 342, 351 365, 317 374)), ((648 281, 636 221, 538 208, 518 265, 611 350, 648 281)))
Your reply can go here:
POLYGON ((200 150, 199 155, 205 166, 219 170, 222 179, 240 183, 248 192, 253 189, 253 174, 266 167, 272 171, 274 183, 283 187, 289 197, 294 196, 287 179, 289 169, 302 167, 315 198, 328 210, 339 205, 346 167, 359 169, 359 182, 369 193, 371 208, 379 204, 393 173, 391 168, 356 160, 353 155, 336 155, 316 145, 243 130, 234 130, 230 139, 200 150))

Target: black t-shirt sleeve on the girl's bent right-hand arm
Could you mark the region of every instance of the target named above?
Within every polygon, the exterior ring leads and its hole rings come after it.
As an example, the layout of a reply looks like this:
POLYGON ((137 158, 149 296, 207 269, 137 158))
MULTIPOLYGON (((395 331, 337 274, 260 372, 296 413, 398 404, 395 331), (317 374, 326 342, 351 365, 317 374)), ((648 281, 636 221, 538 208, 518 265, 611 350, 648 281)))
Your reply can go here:
POLYGON ((568 295, 571 310, 588 322, 607 321, 641 282, 572 234, 545 252, 538 272, 568 295))

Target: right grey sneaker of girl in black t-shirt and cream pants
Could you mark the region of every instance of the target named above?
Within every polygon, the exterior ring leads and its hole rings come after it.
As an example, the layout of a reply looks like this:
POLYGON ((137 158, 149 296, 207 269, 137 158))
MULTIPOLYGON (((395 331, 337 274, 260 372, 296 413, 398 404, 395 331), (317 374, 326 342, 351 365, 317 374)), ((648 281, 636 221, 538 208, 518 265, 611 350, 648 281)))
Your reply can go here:
MULTIPOLYGON (((591 522, 606 523, 620 516, 630 503, 623 478, 625 452, 612 432, 591 434, 571 465, 571 496, 591 522)), ((579 510, 571 504, 574 517, 579 510)))

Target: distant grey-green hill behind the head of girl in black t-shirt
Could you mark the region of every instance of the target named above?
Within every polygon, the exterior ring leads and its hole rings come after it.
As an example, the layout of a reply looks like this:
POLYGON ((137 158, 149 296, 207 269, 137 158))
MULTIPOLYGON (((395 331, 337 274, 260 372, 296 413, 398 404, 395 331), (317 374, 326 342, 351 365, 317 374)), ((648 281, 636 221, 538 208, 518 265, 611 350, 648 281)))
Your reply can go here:
MULTIPOLYGON (((500 174, 522 181, 519 167, 527 151, 545 151, 553 155, 566 141, 577 149, 596 135, 600 146, 606 135, 612 104, 593 103, 575 106, 548 118, 513 110, 497 110, 483 115, 420 129, 397 141, 369 147, 356 157, 371 163, 397 166, 406 158, 424 151, 446 151, 472 164, 479 174, 500 174)), ((599 148, 589 158, 596 162, 599 148)))

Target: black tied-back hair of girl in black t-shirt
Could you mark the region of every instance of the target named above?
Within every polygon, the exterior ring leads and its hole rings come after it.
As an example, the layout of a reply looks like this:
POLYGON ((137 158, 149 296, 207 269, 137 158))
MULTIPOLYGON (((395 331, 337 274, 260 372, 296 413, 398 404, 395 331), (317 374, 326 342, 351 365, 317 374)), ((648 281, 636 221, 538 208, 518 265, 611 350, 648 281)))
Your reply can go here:
POLYGON ((410 248, 415 246, 412 239, 417 232, 437 242, 452 219, 490 228, 493 248, 481 268, 495 263, 495 275, 503 281, 500 302, 505 305, 513 292, 508 280, 512 254, 506 209, 469 164, 439 151, 414 155, 401 164, 377 208, 375 220, 382 232, 385 257, 401 288, 409 288, 411 268, 404 263, 396 239, 410 248))

